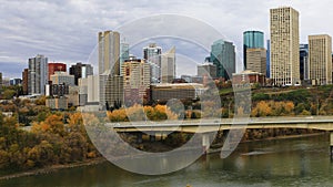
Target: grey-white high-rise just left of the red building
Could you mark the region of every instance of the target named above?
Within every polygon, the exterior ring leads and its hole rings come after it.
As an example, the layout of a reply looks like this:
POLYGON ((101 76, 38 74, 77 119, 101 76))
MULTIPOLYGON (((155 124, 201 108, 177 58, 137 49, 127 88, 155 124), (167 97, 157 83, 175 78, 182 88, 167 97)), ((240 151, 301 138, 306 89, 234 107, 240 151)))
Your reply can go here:
POLYGON ((48 83, 48 58, 38 54, 29 59, 28 94, 46 94, 44 85, 48 83))

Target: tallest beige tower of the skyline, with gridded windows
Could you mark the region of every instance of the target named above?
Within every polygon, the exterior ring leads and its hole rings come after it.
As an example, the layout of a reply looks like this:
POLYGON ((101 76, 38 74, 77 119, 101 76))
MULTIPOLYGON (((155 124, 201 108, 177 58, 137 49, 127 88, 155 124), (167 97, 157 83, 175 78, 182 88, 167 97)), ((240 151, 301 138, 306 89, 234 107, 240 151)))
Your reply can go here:
POLYGON ((271 9, 270 12, 273 85, 301 84, 299 12, 290 7, 271 9))

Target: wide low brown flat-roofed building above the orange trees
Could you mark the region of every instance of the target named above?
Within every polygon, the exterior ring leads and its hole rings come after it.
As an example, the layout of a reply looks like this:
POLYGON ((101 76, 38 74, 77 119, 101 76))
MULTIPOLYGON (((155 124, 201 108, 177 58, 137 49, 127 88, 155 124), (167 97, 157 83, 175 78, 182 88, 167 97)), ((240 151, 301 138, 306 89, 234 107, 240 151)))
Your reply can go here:
POLYGON ((172 98, 196 100, 205 91, 203 84, 198 83, 152 84, 151 100, 164 102, 172 98))

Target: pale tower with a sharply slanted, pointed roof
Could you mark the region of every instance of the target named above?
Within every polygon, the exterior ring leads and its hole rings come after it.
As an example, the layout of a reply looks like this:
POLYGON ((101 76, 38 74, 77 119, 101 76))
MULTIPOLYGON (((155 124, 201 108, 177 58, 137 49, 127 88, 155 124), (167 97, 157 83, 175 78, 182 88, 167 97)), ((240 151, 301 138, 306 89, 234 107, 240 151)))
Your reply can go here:
POLYGON ((175 48, 161 56, 161 83, 172 83, 175 77, 175 48))

